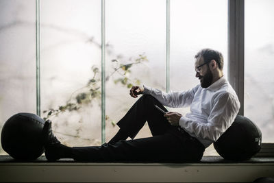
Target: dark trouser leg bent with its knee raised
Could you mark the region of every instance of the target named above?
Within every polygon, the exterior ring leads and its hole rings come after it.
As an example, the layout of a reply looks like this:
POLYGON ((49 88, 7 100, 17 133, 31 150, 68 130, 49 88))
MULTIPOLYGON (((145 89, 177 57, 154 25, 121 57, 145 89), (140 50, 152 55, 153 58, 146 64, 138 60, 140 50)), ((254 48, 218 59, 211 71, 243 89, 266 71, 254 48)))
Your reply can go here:
POLYGON ((146 121, 153 136, 164 134, 171 125, 164 117, 164 114, 155 108, 154 105, 167 111, 166 108, 151 95, 142 95, 117 125, 121 131, 127 133, 132 139, 138 134, 146 121))

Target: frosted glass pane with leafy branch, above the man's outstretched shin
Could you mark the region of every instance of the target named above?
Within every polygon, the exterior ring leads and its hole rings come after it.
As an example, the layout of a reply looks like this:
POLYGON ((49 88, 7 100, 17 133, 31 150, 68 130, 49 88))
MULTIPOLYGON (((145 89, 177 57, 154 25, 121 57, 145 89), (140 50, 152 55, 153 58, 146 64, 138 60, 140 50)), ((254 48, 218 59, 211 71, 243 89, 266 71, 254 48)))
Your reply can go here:
POLYGON ((101 1, 41 1, 40 14, 42 117, 65 110, 49 118, 62 143, 100 145, 101 1))

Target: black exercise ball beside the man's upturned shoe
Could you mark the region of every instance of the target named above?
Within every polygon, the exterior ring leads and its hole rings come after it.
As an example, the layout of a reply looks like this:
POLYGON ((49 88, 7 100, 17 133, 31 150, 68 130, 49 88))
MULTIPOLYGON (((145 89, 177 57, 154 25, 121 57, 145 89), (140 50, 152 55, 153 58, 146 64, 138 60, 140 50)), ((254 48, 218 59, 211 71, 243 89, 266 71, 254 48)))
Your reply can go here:
POLYGON ((45 121, 36 114, 18 113, 5 122, 1 132, 3 149, 16 160, 35 160, 45 151, 42 129, 45 121))

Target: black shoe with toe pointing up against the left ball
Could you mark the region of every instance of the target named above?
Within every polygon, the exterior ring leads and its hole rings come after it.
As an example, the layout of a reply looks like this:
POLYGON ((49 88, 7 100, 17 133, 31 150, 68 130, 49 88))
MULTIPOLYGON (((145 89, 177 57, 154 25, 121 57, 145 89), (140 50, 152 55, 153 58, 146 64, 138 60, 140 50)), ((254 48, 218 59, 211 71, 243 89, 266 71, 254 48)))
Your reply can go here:
POLYGON ((51 121, 45 121, 45 125, 42 130, 43 141, 45 145, 45 156, 47 160, 58 160, 60 159, 60 149, 62 144, 56 136, 53 134, 51 128, 51 121))

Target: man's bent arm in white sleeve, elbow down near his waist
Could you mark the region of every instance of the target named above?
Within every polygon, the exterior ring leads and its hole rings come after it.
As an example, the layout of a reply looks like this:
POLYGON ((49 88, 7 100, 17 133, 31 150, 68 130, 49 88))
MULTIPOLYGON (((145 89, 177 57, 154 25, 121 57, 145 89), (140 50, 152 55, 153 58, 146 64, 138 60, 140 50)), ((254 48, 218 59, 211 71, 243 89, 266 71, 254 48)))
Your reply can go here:
POLYGON ((238 114, 240 103, 229 93, 223 93, 214 100, 214 106, 208 117, 208 123, 192 121, 187 117, 179 119, 179 125, 197 138, 216 141, 232 125, 238 114))

